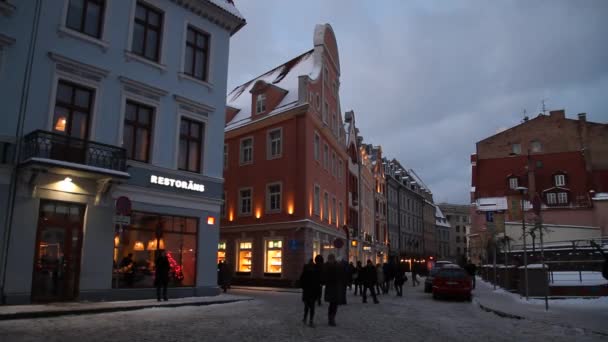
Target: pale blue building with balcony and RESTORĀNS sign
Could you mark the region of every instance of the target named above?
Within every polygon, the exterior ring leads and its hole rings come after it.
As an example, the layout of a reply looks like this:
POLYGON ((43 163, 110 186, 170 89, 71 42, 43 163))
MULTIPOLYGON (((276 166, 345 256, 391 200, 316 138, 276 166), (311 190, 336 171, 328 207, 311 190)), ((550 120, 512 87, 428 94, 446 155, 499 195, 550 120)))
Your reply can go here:
POLYGON ((161 249, 169 297, 218 292, 244 25, 231 0, 0 0, 3 303, 154 297, 161 249))

